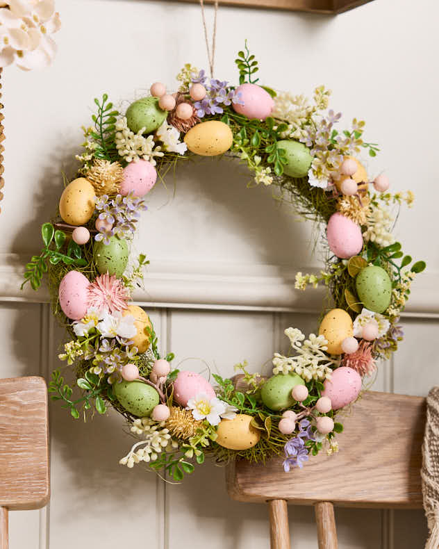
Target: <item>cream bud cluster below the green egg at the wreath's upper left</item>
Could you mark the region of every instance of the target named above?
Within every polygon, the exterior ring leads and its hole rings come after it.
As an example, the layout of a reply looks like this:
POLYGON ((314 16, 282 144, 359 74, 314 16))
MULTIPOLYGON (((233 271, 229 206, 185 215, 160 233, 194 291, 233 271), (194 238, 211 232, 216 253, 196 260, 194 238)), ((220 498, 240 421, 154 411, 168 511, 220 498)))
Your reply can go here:
POLYGON ((120 117, 115 125, 116 149, 119 156, 122 156, 126 162, 129 163, 142 158, 155 166, 154 156, 164 156, 161 147, 156 146, 153 136, 145 138, 142 135, 145 131, 144 128, 140 128, 138 133, 134 133, 129 129, 126 116, 120 117))

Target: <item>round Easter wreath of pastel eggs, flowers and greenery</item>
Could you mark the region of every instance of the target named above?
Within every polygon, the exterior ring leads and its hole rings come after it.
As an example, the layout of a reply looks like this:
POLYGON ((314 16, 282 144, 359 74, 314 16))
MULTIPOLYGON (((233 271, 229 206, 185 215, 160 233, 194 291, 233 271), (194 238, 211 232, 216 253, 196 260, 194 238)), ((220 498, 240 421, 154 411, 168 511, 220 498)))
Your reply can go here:
POLYGON ((42 225, 44 249, 24 273, 34 290, 48 274, 53 313, 69 334, 60 359, 82 391, 74 397, 56 370, 51 398, 74 418, 112 406, 138 437, 120 463, 144 461, 176 481, 206 455, 218 462, 281 455, 288 471, 322 448, 336 452, 336 413, 358 398, 376 361, 397 350, 400 311, 425 268, 401 252, 391 232, 393 210, 410 206, 413 194, 390 194, 386 175, 370 181, 356 158, 362 149, 378 151, 363 140, 364 122, 338 131, 341 113, 327 110, 323 86, 309 102, 258 85, 247 44, 235 63, 237 86, 185 65, 176 93, 154 83, 124 115, 107 95, 95 99, 78 176, 65 186, 56 217, 42 225), (271 377, 242 363, 232 379, 213 375, 213 387, 172 368, 174 355, 160 355, 147 313, 129 304, 149 263, 144 254, 129 262, 144 195, 190 153, 239 158, 256 185, 276 187, 299 215, 326 225, 325 268, 297 273, 295 287, 324 284, 331 307, 318 335, 285 330, 290 352, 274 354, 271 377))

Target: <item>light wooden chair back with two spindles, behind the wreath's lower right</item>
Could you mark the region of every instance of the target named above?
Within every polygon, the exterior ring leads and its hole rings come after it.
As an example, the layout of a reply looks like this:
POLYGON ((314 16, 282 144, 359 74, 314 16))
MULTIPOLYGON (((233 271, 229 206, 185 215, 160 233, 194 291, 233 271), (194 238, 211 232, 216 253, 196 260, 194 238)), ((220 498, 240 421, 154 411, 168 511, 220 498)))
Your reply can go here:
POLYGON ((287 502, 314 505, 319 549, 338 547, 333 505, 418 509, 425 399, 364 393, 339 415, 340 452, 311 457, 284 473, 282 459, 265 466, 237 461, 227 468, 231 498, 268 502, 272 549, 290 549, 287 502))

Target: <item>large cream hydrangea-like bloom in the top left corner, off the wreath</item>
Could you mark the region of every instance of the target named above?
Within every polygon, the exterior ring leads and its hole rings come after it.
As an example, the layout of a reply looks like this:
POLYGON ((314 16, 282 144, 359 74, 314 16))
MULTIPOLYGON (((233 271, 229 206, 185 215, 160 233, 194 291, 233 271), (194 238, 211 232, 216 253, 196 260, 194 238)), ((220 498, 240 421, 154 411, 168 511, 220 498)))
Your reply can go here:
POLYGON ((0 67, 23 70, 50 65, 56 54, 51 34, 59 31, 54 0, 0 1, 0 67))

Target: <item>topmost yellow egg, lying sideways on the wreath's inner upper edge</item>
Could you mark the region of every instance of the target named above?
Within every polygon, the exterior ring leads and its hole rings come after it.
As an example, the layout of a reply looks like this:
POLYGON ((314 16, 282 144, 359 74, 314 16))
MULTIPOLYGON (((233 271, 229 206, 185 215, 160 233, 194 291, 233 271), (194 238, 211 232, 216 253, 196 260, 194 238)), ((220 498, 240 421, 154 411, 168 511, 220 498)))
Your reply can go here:
POLYGON ((219 120, 201 122, 191 128, 185 135, 188 149, 201 156, 216 156, 228 151, 233 142, 229 126, 219 120))

